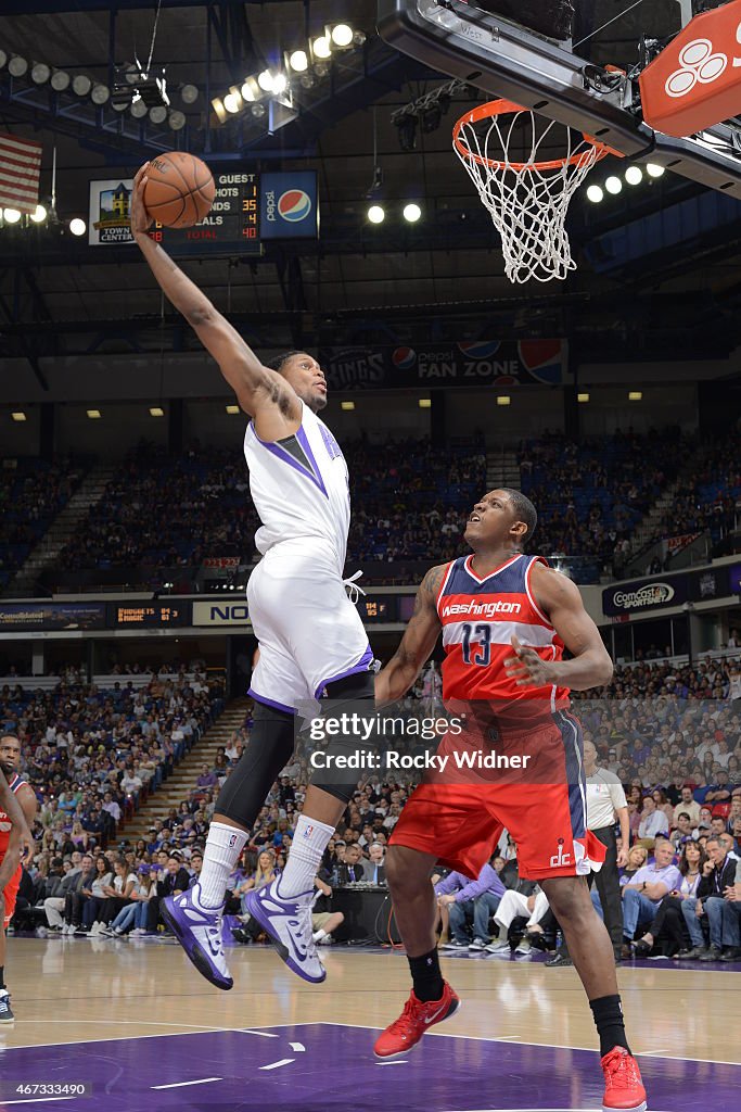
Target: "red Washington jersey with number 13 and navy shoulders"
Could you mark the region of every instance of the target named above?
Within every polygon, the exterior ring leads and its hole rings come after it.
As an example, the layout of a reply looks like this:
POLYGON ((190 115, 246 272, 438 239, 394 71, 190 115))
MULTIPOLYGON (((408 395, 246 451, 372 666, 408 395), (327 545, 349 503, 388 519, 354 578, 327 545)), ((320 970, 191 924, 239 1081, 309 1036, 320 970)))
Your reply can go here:
POLYGON ((438 595, 445 651, 443 699, 492 702, 498 716, 514 709, 507 715, 512 728, 520 718, 531 719, 535 706, 549 715, 568 706, 568 687, 518 687, 504 669, 504 661, 514 655, 512 635, 545 661, 563 656, 563 642, 539 609, 530 585, 533 565, 548 567, 548 560, 519 554, 480 578, 472 558, 460 556, 448 566, 438 595))

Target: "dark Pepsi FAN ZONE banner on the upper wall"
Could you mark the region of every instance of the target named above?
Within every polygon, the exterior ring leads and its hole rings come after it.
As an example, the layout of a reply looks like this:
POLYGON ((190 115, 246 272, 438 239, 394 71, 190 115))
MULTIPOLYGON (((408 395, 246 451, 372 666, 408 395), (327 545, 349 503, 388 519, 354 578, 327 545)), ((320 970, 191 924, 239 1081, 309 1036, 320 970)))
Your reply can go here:
POLYGON ((331 389, 448 386, 563 386, 565 340, 478 340, 424 347, 326 347, 319 359, 331 389))

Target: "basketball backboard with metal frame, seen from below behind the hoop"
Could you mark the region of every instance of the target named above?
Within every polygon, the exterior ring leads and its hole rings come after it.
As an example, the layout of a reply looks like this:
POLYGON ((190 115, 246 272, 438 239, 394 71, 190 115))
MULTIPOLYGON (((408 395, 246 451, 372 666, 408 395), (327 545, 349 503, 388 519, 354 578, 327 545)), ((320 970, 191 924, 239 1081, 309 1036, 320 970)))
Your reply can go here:
POLYGON ((432 69, 741 199, 737 121, 673 138, 649 127, 641 110, 640 75, 692 18, 692 0, 577 0, 574 7, 572 38, 560 41, 464 0, 379 0, 379 32, 432 69))

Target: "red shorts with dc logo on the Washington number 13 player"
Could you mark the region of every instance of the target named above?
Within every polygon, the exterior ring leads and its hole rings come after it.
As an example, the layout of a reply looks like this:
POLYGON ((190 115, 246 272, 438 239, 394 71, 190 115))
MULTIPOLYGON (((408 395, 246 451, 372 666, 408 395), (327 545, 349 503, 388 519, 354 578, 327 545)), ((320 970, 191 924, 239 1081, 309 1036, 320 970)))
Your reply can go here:
MULTIPOLYGON (((507 830, 517 844, 520 876, 578 876, 599 870, 605 848, 587 830, 581 727, 557 712, 538 747, 558 783, 478 780, 422 783, 404 805, 390 845, 433 854, 441 864, 475 878, 507 830)), ((552 776, 551 778, 555 778, 552 776)))

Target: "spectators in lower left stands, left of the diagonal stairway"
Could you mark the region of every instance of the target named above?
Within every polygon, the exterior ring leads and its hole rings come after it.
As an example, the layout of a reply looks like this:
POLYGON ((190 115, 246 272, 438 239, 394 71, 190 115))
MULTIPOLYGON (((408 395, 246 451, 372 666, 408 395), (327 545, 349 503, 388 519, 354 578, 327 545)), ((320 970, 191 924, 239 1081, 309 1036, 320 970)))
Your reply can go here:
MULTIPOLYGON (((18 736, 22 775, 39 801, 29 874, 37 895, 54 894, 49 888, 69 870, 73 854, 112 854, 122 823, 157 792, 220 713, 221 696, 217 682, 198 669, 152 675, 138 688, 126 681, 99 689, 67 679, 46 692, 19 684, 0 687, 1 728, 18 736)), ((183 841, 198 823, 199 833, 204 831, 204 814, 201 808, 188 816, 183 841)), ((131 857, 133 847, 127 852, 128 876, 144 862, 131 857)), ((107 872, 116 874, 114 860, 107 872)))

